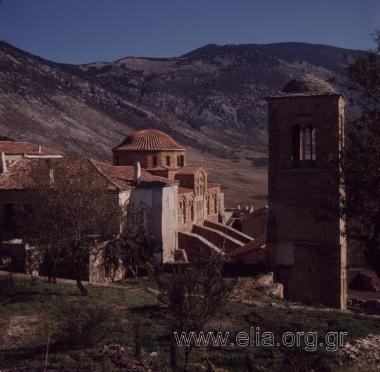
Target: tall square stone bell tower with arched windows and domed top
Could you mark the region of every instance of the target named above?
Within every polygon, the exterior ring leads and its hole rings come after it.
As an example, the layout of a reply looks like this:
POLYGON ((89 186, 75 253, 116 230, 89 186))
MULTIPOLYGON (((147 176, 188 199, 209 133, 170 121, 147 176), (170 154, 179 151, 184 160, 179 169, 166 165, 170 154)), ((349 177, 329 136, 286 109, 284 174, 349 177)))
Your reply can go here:
POLYGON ((269 262, 286 299, 344 309, 343 97, 306 75, 269 97, 268 111, 269 262))

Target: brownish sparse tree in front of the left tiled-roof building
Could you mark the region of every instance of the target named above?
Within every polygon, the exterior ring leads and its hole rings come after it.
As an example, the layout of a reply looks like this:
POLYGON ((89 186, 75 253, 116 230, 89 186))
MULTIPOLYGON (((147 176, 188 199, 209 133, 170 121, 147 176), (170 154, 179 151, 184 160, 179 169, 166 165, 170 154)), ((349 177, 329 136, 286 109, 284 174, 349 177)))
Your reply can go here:
POLYGON ((48 262, 49 277, 65 262, 86 295, 82 280, 91 256, 102 254, 97 241, 120 231, 118 197, 87 159, 35 161, 32 202, 24 238, 48 262))

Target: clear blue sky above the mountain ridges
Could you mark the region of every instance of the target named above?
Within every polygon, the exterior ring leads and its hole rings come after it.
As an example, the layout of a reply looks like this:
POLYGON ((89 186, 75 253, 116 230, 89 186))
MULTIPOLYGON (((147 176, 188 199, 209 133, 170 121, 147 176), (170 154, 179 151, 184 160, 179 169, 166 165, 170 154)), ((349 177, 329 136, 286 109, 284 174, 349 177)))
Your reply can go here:
MULTIPOLYGON (((1 0, 0 0, 1 1, 1 0)), ((54 61, 178 56, 208 43, 373 46, 380 0, 2 0, 0 39, 54 61)))

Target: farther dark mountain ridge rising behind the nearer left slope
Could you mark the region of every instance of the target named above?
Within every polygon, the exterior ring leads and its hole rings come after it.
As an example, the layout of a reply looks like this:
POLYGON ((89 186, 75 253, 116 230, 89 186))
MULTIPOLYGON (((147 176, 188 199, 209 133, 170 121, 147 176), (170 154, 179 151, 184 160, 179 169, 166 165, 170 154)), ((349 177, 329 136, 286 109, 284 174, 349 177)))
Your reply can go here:
POLYGON ((229 148, 263 149, 265 97, 304 73, 339 83, 357 53, 303 43, 210 44, 178 58, 128 57, 78 66, 74 73, 137 105, 174 115, 197 136, 229 148))

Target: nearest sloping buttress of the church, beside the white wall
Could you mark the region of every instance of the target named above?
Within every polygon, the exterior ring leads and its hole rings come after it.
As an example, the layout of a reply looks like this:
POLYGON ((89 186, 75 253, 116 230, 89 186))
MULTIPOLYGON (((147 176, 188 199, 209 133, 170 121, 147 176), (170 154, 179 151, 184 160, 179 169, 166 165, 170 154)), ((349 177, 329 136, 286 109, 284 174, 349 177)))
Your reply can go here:
POLYGON ((189 262, 198 262, 212 253, 224 256, 224 252, 218 247, 194 233, 179 232, 178 246, 186 252, 189 262))

